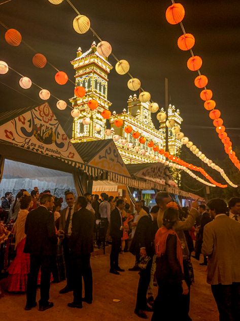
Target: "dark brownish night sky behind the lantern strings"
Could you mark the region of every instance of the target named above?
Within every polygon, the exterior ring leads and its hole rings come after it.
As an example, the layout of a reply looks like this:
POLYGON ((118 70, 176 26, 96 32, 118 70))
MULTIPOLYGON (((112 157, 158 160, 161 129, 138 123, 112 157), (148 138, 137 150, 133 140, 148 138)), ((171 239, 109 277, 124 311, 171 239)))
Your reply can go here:
MULTIPOLYGON (((190 52, 177 46, 177 40, 183 34, 181 27, 171 25, 165 19, 165 11, 172 2, 72 0, 72 3, 90 19, 91 27, 99 37, 112 45, 118 59, 129 62, 130 73, 141 80, 144 90, 150 92, 160 107, 165 105, 164 78, 168 78, 169 103, 180 109, 184 119, 182 131, 198 148, 201 145, 201 151, 207 157, 226 157, 209 112, 199 97, 201 90, 194 85, 197 72, 187 68, 190 52)), ((185 8, 185 31, 195 37, 193 53, 202 58, 200 71, 209 79, 207 88, 213 91, 213 99, 221 111, 234 150, 235 145, 240 144, 240 1, 182 0, 181 4, 185 8)), ((0 21, 8 28, 17 29, 23 41, 34 50, 24 43, 10 46, 4 38, 6 28, 0 25, 0 60, 68 102, 74 95, 73 83, 58 85, 54 80, 56 71, 50 65, 43 69, 34 67, 32 56, 44 54, 52 65, 65 71, 74 81, 75 71, 70 61, 75 59, 78 47, 85 52, 93 41, 98 43, 91 31, 84 35, 74 31, 72 23, 76 16, 66 0, 58 6, 48 0, 12 0, 1 5, 0 21)), ((112 56, 109 62, 115 66, 112 56)), ((0 112, 43 103, 39 98, 40 90, 34 85, 29 90, 21 89, 19 79, 20 76, 11 70, 0 75, 0 112)), ((110 72, 108 99, 112 102, 111 111, 121 112, 127 108, 126 101, 134 94, 127 88, 128 79, 128 75, 118 75, 115 68, 110 72)), ((71 138, 71 109, 59 111, 54 98, 48 102, 71 138)), ((156 114, 152 117, 157 125, 156 114)))

